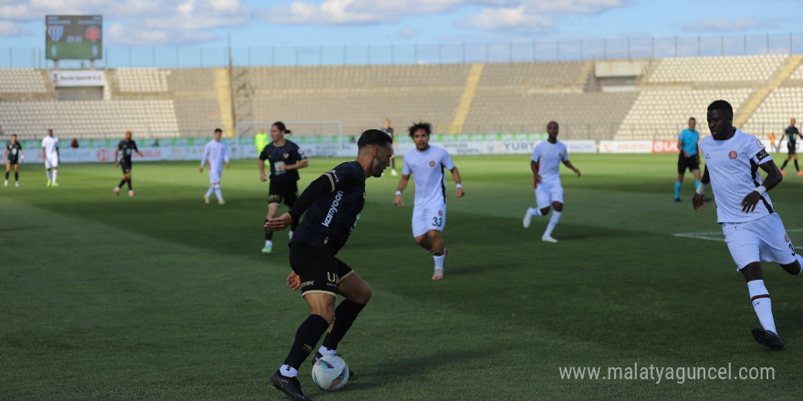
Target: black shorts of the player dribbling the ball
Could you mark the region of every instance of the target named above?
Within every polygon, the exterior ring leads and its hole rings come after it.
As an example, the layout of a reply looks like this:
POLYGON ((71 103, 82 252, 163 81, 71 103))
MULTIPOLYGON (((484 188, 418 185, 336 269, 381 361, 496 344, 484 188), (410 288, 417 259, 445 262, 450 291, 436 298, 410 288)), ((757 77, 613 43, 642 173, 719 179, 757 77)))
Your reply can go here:
POLYGON ((290 267, 301 279, 301 296, 307 293, 337 296, 340 281, 354 272, 348 264, 323 248, 302 242, 290 246, 290 267))

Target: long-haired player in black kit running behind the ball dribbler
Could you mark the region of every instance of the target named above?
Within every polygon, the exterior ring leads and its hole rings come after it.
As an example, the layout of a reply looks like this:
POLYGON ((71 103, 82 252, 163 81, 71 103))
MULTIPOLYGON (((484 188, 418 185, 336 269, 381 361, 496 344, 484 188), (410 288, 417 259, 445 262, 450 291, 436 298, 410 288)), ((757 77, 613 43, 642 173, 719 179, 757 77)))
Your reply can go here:
MULTIPOLYGON (((281 121, 276 121, 270 127, 270 138, 272 142, 267 144, 265 149, 259 154, 259 180, 265 180, 265 160, 270 162, 270 185, 267 190, 267 216, 265 221, 276 217, 279 205, 284 201, 289 210, 293 209, 293 203, 298 197, 298 169, 308 166, 307 156, 298 148, 298 145, 285 139, 292 131, 285 127, 281 121)), ((290 226, 290 238, 296 231, 298 221, 293 221, 290 226)), ((273 231, 265 231, 265 247, 263 253, 273 251, 273 231)))

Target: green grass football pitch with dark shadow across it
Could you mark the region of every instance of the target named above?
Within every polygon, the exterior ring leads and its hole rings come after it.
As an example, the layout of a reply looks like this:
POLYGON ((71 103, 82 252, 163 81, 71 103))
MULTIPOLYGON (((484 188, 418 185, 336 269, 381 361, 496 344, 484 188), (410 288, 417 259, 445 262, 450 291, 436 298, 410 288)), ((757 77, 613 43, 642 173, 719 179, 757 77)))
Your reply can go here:
MULTIPOLYGON (((686 175, 675 204, 674 155, 574 155, 566 207, 525 230, 535 203, 527 156, 455 157, 446 276, 412 241, 397 177, 368 182, 358 228, 339 258, 373 298, 339 352, 357 371, 316 400, 799 399, 803 277, 765 264, 782 352, 753 342, 758 324, 714 205, 694 212, 686 175), (673 236, 704 234, 711 240, 673 236), (774 379, 564 379, 561 367, 771 367, 774 379)), ((781 159, 777 156, 777 159, 781 159)), ((300 185, 343 159, 311 159, 300 185)), ((401 160, 400 160, 401 161, 401 160)), ((203 203, 197 162, 135 160, 120 170, 65 164, 60 187, 23 165, 0 187, 0 399, 265 400, 306 304, 287 288, 287 234, 264 255, 266 183, 253 160, 224 171, 224 206, 203 203)), ((401 163, 397 162, 401 167, 401 163)), ((788 169, 787 169, 788 170, 788 169)), ((794 170, 790 170, 794 171, 794 170)), ((568 170, 564 170, 570 173, 568 170)), ((803 245, 803 177, 771 191, 803 245)), ((710 193, 710 192, 709 192, 710 193)))

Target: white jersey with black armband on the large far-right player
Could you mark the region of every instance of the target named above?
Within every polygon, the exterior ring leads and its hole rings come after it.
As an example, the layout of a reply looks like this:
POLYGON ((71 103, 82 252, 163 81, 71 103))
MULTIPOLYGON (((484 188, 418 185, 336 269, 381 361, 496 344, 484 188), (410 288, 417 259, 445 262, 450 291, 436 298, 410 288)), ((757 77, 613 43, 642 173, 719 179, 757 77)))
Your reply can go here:
POLYGON ((768 193, 761 196, 755 211, 742 211, 742 200, 761 185, 758 165, 772 160, 760 140, 736 129, 731 139, 701 139, 700 150, 714 190, 717 222, 753 221, 773 212, 768 193))

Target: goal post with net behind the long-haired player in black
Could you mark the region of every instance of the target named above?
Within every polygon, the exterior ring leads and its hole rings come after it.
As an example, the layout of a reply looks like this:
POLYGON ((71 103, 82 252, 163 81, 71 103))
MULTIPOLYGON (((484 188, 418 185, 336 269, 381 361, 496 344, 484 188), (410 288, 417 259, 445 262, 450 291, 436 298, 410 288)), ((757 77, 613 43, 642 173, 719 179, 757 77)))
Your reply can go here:
MULTIPOLYGON (((270 127, 273 121, 244 121, 238 122, 235 129, 236 146, 232 149, 233 159, 256 159, 259 157, 254 138, 260 130, 265 129, 270 141, 270 127)), ((331 149, 332 154, 318 156, 334 157, 343 149, 343 124, 340 121, 282 121, 290 130, 286 139, 296 142, 301 148, 313 143, 326 143, 322 149, 331 149)))

